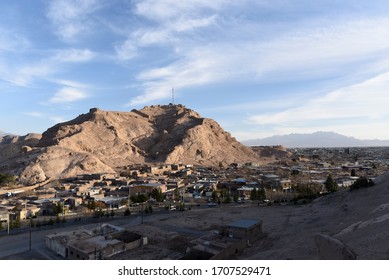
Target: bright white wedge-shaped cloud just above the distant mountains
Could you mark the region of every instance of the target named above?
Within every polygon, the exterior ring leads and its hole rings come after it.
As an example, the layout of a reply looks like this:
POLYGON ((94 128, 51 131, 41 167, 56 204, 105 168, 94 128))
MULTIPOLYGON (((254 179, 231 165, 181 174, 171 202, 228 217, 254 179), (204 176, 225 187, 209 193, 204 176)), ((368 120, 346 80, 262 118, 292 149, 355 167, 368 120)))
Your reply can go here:
POLYGON ((271 133, 314 132, 331 130, 358 136, 357 130, 377 131, 388 125, 389 72, 364 82, 340 88, 320 97, 306 99, 298 106, 278 111, 253 115, 247 118, 252 125, 271 127, 271 133))

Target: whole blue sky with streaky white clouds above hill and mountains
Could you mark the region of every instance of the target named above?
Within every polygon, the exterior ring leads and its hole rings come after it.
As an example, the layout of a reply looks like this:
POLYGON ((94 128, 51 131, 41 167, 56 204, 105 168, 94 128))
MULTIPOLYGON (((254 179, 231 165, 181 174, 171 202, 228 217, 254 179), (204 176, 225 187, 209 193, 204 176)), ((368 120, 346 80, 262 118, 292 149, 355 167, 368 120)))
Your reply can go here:
POLYGON ((176 103, 238 140, 389 139, 389 1, 0 1, 0 130, 176 103))

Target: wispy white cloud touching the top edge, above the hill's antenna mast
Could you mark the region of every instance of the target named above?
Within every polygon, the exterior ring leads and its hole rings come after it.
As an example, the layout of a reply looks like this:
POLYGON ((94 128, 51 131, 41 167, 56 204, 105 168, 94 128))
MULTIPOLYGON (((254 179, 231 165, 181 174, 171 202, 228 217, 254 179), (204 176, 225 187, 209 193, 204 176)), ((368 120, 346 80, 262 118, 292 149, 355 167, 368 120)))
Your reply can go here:
POLYGON ((142 47, 173 45, 197 29, 216 24, 215 12, 230 1, 142 1, 135 5, 134 13, 149 25, 132 30, 127 39, 115 48, 117 58, 130 60, 139 55, 142 47))

